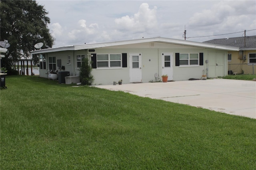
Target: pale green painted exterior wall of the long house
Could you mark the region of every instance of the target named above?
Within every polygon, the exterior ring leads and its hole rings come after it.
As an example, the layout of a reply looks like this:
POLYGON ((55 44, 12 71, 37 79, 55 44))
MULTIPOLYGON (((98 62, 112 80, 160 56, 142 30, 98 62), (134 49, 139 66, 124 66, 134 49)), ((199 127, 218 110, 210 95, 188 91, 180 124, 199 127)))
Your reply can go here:
MULTIPOLYGON (((96 54, 113 54, 113 53, 127 53, 127 67, 123 68, 97 68, 92 69, 94 75, 93 84, 113 84, 113 81, 123 80, 123 83, 130 83, 130 53, 140 53, 142 56, 142 82, 146 83, 150 80, 155 81, 155 73, 159 76, 162 75, 162 53, 173 53, 173 80, 188 80, 190 78, 200 79, 204 70, 208 64, 205 62, 208 60, 209 51, 220 51, 224 52, 224 74, 227 73, 227 51, 206 49, 201 47, 191 47, 185 45, 174 45, 168 43, 153 42, 152 43, 141 43, 141 44, 129 44, 112 47, 101 47, 95 48, 94 52, 88 52, 88 50, 77 50, 77 51, 60 51, 54 53, 48 53, 46 59, 47 73, 48 71, 48 57, 55 56, 56 63, 57 59, 62 60, 62 65, 65 66, 64 71, 70 71, 70 75, 79 75, 79 69, 76 67, 76 55, 85 55, 89 59, 92 53, 96 54), (204 65, 198 66, 175 66, 175 53, 204 53, 204 65), (67 64, 67 57, 71 56, 70 65, 67 64)), ((48 74, 42 74, 41 77, 46 77, 48 74)))

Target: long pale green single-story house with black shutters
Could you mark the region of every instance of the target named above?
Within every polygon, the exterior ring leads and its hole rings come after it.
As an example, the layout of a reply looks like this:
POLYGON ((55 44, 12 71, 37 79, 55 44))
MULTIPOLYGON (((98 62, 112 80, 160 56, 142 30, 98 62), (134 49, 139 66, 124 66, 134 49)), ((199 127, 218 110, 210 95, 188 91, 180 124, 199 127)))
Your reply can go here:
POLYGON ((48 77, 50 70, 69 71, 79 75, 82 58, 92 61, 93 84, 112 84, 160 81, 168 74, 168 81, 225 76, 228 73, 228 51, 238 47, 175 40, 170 38, 142 38, 103 43, 86 43, 31 51, 40 55, 40 77, 48 77))

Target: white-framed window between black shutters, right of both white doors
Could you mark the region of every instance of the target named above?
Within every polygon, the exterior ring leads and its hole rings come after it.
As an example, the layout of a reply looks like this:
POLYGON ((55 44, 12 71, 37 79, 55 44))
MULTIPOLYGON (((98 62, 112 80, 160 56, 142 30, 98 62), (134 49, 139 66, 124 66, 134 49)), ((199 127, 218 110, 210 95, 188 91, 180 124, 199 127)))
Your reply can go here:
POLYGON ((180 65, 199 65, 199 54, 180 53, 180 65))

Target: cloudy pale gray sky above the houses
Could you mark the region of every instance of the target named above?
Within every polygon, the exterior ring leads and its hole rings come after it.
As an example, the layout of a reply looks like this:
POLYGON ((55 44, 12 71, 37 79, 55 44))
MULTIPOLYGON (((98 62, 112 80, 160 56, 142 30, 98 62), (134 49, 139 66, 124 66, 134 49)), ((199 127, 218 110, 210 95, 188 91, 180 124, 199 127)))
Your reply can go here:
POLYGON ((255 0, 36 1, 49 12, 53 47, 158 36, 184 40, 185 26, 188 41, 240 37, 244 30, 256 35, 255 0), (227 35, 213 36, 220 34, 227 35))

